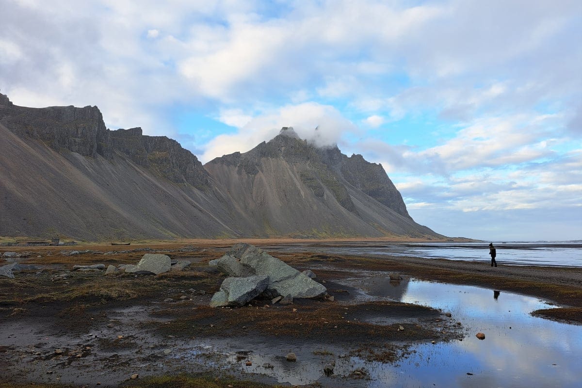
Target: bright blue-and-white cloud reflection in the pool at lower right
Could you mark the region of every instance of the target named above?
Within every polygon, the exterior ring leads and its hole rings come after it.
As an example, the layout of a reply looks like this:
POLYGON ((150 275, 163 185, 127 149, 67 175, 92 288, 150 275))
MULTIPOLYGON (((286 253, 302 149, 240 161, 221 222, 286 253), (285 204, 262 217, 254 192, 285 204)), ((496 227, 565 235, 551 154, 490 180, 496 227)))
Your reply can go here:
MULTIPOLYGON (((558 386, 576 386, 582 379, 578 366, 582 355, 582 328, 531 316, 534 309, 548 307, 537 298, 501 293, 496 301, 492 290, 411 282, 403 301, 414 300, 445 311, 454 310, 459 315, 453 315, 453 318, 473 329, 464 341, 443 347, 443 353, 435 355, 439 359, 470 358, 471 368, 480 369, 489 376, 489 381, 496 381, 497 385, 508 385, 519 378, 519 386, 526 382, 532 386, 555 386, 556 383, 558 386), (474 337, 477 330, 485 333, 485 340, 474 337), (562 368, 555 368, 552 364, 562 368)), ((427 369, 435 369, 427 366, 427 369)), ((458 366, 449 366, 462 373, 458 366)), ((449 369, 449 372, 453 371, 449 369)), ((424 374, 428 371, 418 372, 424 374)), ((472 383, 462 381, 463 386, 465 383, 472 386, 472 383)))

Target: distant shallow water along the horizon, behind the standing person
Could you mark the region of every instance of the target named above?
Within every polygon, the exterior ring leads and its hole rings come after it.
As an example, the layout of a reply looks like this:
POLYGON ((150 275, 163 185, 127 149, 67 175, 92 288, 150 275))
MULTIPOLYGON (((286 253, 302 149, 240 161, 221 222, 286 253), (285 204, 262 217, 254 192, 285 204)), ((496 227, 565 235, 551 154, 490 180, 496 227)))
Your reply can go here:
MULTIPOLYGON (((582 242, 493 242, 503 265, 582 267, 582 242)), ((411 256, 489 262, 489 242, 471 243, 342 243, 286 244, 262 247, 268 251, 313 251, 328 254, 411 256)))

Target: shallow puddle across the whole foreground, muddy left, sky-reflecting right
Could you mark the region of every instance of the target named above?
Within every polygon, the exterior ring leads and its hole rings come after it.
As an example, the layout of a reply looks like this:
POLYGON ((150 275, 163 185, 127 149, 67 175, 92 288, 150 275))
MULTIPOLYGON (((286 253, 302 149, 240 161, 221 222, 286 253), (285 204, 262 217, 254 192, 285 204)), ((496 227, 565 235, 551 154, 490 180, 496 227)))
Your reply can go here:
MULTIPOLYGON (((128 373, 145 376, 216 369, 235 375, 254 373, 265 382, 294 386, 318 382, 324 387, 578 387, 582 380, 582 326, 531 316, 535 309, 551 307, 538 298, 414 279, 391 282, 384 276, 338 283, 359 289, 358 298, 440 308, 452 315, 442 319, 462 322, 468 334, 462 341, 415 344, 407 358, 393 365, 349 357, 341 338, 324 344, 301 338, 265 339, 252 333, 230 339, 160 337, 136 330, 134 325, 140 321, 161 321, 150 315, 150 308, 136 305, 108 311, 115 328, 104 326, 77 336, 55 333, 38 322, 3 323, 0 344, 10 347, 5 357, 18 357, 22 365, 30 365, 3 373, 44 382, 58 378, 63 383, 83 384, 89 379, 102 386, 116 386, 128 373), (485 339, 477 339, 477 332, 485 333, 485 339), (118 335, 124 338, 112 346, 118 335), (73 358, 87 346, 93 348, 73 358), (55 348, 65 349, 66 355, 55 357, 55 348), (296 353, 297 362, 286 361, 289 352, 296 353), (325 376, 324 366, 331 361, 336 363, 335 374, 325 376), (369 379, 349 377, 359 368, 365 369, 369 379)), ((406 320, 380 316, 373 322, 406 320)), ((2 361, 0 357, 0 367, 2 361)))

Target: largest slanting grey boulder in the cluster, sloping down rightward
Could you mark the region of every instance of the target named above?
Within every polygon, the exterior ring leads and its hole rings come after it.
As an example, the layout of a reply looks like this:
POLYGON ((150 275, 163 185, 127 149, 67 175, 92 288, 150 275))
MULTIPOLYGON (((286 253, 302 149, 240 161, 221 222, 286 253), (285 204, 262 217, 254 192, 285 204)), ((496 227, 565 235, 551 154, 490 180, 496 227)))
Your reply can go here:
POLYGON ((316 298, 327 291, 320 283, 254 245, 235 244, 225 256, 228 255, 251 268, 255 275, 268 276, 267 294, 271 298, 316 298))

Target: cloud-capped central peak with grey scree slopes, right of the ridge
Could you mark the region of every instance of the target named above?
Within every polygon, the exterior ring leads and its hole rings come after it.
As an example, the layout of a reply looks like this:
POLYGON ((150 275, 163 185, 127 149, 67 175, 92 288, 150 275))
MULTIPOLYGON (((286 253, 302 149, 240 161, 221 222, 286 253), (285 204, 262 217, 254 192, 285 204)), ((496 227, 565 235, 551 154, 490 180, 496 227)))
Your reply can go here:
POLYGON ((237 218, 257 236, 437 237, 410 218, 381 165, 320 148, 285 127, 249 152, 204 166, 226 188, 237 218))

